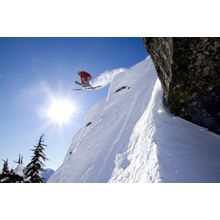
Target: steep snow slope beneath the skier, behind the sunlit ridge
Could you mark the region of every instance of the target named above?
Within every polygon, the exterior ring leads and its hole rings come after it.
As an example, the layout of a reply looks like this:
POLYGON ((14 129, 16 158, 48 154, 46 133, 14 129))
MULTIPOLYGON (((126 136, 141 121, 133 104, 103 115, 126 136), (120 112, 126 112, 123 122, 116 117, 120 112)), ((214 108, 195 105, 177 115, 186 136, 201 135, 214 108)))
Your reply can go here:
POLYGON ((87 116, 85 124, 92 124, 74 136, 63 164, 49 182, 107 182, 115 167, 115 156, 127 149, 156 79, 150 59, 115 75, 107 99, 94 106, 87 116))

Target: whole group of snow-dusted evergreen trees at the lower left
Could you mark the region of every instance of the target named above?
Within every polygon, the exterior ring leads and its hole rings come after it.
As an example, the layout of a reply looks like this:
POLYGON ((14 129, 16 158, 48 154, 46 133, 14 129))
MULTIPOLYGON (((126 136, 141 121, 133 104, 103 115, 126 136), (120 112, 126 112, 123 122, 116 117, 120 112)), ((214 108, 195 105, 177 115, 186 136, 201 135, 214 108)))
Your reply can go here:
POLYGON ((26 167, 23 164, 23 156, 21 155, 15 161, 18 164, 15 169, 9 168, 8 159, 3 160, 0 183, 43 183, 42 172, 45 170, 44 161, 48 160, 44 153, 45 147, 44 135, 42 134, 37 145, 32 149, 33 156, 26 167))

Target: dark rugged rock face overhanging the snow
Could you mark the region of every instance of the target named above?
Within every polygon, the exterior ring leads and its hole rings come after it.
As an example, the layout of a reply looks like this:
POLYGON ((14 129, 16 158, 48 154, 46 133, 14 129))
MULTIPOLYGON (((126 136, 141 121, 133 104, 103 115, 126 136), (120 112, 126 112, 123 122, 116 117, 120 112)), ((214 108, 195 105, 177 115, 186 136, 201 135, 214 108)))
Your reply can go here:
POLYGON ((172 113, 220 133, 220 38, 144 38, 172 113))

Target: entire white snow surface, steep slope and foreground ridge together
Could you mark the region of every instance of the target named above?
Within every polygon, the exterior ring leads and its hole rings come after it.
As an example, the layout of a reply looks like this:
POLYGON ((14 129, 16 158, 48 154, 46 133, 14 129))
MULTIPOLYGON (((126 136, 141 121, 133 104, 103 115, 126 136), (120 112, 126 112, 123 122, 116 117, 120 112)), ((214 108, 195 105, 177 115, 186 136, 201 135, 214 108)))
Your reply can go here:
POLYGON ((115 74, 48 182, 220 182, 220 136, 165 111, 148 57, 115 74))

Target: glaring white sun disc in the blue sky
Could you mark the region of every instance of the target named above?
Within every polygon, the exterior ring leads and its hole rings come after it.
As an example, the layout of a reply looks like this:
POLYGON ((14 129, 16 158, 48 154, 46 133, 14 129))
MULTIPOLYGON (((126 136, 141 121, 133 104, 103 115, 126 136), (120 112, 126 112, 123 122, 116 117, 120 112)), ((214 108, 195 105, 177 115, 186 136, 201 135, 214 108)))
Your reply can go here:
POLYGON ((63 125, 70 122, 75 111, 75 105, 70 100, 53 98, 46 115, 52 123, 63 125))

